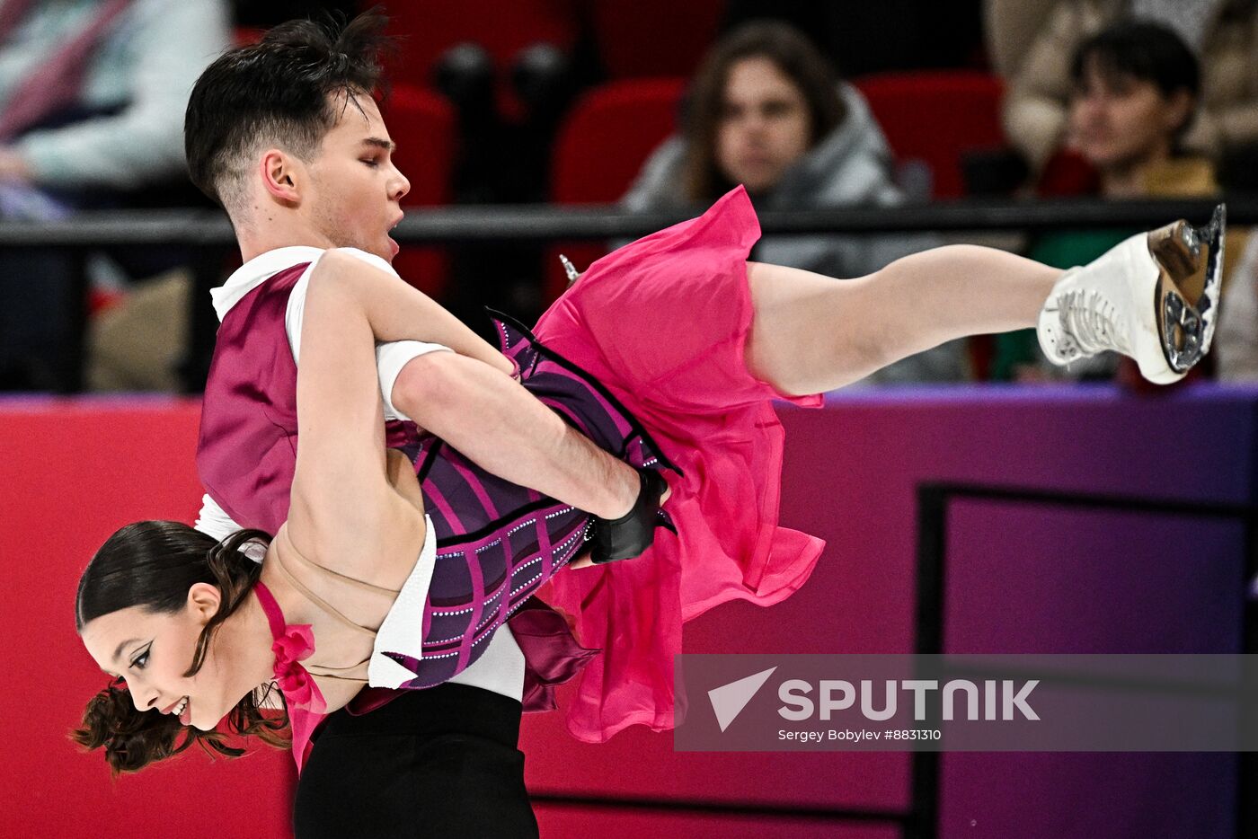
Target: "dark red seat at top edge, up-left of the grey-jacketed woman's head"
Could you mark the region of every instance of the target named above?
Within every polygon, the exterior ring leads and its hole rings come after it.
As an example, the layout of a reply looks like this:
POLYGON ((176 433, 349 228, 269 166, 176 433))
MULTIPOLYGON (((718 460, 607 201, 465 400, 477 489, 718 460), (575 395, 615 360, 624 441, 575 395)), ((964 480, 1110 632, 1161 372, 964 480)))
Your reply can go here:
POLYGON ((716 39, 725 0, 595 0, 591 6, 611 78, 689 77, 716 39))

